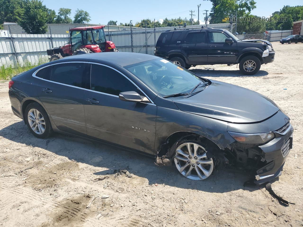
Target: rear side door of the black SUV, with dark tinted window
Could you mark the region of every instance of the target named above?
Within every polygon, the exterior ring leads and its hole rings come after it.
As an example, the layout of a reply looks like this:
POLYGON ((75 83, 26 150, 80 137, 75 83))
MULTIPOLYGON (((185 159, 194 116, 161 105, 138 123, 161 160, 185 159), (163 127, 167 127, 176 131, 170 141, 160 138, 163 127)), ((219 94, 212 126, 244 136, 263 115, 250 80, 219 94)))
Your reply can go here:
POLYGON ((207 62, 206 31, 192 31, 186 35, 181 48, 189 63, 207 62))

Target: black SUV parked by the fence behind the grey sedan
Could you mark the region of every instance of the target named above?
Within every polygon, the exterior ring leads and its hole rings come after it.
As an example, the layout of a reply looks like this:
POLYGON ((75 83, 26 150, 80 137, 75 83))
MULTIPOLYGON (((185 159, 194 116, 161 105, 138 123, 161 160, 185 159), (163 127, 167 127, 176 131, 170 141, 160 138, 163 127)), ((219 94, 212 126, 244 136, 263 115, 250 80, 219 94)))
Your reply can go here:
POLYGON ((275 51, 266 40, 240 40, 228 30, 202 26, 161 33, 155 55, 186 69, 196 65, 239 64, 243 74, 254 75, 261 64, 274 61, 275 51))

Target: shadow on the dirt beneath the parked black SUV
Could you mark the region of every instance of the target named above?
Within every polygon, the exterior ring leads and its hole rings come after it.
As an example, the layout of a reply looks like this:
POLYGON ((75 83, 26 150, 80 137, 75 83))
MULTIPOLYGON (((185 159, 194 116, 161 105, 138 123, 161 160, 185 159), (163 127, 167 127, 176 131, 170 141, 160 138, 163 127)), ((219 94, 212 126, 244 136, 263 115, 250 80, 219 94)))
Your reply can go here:
POLYGON ((243 75, 240 70, 210 70, 210 69, 189 69, 192 73, 201 77, 263 77, 268 72, 264 70, 258 71, 255 75, 243 75))

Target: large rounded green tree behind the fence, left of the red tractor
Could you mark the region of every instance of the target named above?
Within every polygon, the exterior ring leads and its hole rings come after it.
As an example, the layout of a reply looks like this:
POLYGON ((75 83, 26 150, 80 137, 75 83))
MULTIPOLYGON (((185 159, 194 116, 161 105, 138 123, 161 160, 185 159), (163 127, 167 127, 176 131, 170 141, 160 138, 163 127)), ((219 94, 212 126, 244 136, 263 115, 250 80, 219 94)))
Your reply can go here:
POLYGON ((24 13, 17 23, 28 34, 45 34, 48 12, 40 0, 29 0, 24 5, 24 13))

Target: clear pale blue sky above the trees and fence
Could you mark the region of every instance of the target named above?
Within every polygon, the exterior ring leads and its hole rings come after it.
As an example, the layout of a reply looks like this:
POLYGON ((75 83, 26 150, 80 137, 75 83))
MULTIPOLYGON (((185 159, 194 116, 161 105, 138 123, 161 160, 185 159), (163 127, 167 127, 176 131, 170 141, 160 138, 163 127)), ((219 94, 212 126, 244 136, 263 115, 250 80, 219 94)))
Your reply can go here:
MULTIPOLYGON (((58 13, 59 8, 72 9, 72 18, 77 8, 87 11, 91 16, 90 23, 107 24, 109 20, 125 23, 132 20, 133 22, 140 21, 141 19, 149 18, 156 19, 161 22, 165 17, 167 18, 190 18, 189 10, 194 10, 195 20, 198 19, 198 4, 200 8, 200 21, 202 20, 201 14, 204 10, 211 9, 210 1, 202 0, 187 0, 187 1, 83 1, 83 0, 44 0, 43 3, 58 13)), ((271 13, 280 10, 284 5, 302 5, 302 0, 255 0, 257 8, 252 11, 252 14, 258 16, 268 17, 271 13)), ((208 12, 209 13, 209 12, 208 12)))

